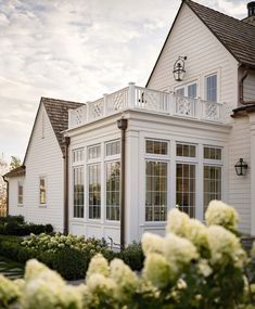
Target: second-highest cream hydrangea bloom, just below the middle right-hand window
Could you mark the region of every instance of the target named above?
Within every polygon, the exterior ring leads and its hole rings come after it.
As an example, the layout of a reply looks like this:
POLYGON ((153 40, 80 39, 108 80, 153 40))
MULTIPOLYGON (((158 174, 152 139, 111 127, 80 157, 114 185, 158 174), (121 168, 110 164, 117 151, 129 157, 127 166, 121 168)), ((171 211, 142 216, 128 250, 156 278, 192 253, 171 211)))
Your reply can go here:
POLYGON ((186 236, 189 234, 189 216, 178 210, 177 208, 171 209, 167 216, 167 227, 166 232, 174 233, 178 236, 186 236))

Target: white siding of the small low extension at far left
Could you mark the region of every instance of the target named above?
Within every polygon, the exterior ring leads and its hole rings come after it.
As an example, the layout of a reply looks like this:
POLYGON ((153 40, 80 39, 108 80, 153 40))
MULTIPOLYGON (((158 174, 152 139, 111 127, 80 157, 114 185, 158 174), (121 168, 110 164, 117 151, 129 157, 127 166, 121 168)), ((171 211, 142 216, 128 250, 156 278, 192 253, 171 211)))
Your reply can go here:
POLYGON ((17 199, 18 182, 23 183, 23 190, 24 190, 25 188, 24 176, 9 178, 9 215, 11 216, 22 215, 25 217, 26 207, 24 207, 25 205, 24 194, 23 194, 23 205, 18 205, 18 199, 17 199))

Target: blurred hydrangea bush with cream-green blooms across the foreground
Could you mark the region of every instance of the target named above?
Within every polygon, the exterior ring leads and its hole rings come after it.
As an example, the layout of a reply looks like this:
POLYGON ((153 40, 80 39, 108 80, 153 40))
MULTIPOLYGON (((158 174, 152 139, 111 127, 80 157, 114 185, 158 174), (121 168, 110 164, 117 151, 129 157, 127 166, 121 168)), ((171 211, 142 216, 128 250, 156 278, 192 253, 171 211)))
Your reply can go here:
POLYGON ((56 272, 30 260, 24 280, 0 278, 1 308, 255 308, 255 245, 246 255, 235 234, 238 215, 230 206, 213 202, 205 218, 206 226, 173 209, 165 237, 143 234, 145 260, 139 274, 123 260, 109 262, 99 254, 85 283, 69 286, 56 272), (228 218, 221 218, 220 207, 228 218))

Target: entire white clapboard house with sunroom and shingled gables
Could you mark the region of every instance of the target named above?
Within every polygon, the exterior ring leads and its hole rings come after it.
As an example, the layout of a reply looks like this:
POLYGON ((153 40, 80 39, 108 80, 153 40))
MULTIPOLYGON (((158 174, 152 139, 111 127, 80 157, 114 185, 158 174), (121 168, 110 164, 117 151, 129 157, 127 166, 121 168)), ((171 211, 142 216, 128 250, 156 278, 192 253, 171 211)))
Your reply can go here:
POLYGON ((68 125, 62 114, 56 121, 65 127, 64 160, 61 130, 41 104, 23 207, 22 177, 5 176, 10 214, 124 245, 144 231, 164 233, 176 205, 203 220, 216 198, 233 205, 241 231, 255 235, 255 2, 247 7, 239 21, 183 0, 145 88, 130 82, 78 106, 54 101, 60 113, 72 108, 68 125))

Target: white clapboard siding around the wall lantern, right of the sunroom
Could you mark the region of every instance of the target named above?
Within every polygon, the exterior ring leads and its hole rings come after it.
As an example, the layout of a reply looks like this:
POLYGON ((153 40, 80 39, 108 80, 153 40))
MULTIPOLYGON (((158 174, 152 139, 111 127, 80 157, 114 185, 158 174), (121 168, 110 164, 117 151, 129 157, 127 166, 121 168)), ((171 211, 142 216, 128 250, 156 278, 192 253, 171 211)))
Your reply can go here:
POLYGON ((242 157, 251 166, 251 138, 248 118, 237 118, 229 140, 229 204, 240 214, 240 229, 251 233, 251 170, 237 176, 234 164, 242 157))

